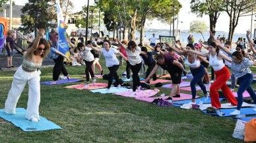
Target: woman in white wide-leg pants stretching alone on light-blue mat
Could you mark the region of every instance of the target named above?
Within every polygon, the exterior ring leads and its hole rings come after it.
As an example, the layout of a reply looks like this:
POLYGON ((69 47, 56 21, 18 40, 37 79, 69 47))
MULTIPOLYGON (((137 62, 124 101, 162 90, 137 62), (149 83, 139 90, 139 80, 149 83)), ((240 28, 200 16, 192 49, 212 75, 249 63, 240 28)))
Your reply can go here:
POLYGON ((26 108, 26 119, 38 122, 40 104, 40 70, 42 62, 49 53, 49 43, 42 38, 46 30, 38 30, 38 37, 28 47, 22 65, 13 76, 13 83, 5 101, 5 113, 15 114, 16 104, 20 94, 28 82, 28 107, 26 108))

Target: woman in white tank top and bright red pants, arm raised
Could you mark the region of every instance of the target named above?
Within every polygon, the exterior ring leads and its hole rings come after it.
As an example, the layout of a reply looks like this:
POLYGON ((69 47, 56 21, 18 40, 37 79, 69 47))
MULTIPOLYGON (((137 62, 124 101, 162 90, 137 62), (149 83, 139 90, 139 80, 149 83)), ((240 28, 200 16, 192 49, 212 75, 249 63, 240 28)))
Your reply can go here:
POLYGON ((230 62, 232 60, 226 57, 223 53, 220 53, 220 49, 214 42, 210 43, 208 49, 208 53, 201 53, 191 49, 188 49, 187 51, 209 58, 210 66, 214 69, 214 74, 216 75, 216 80, 210 86, 210 100, 212 102, 212 106, 216 108, 221 107, 218 95, 219 89, 222 90, 227 100, 230 101, 232 105, 238 105, 238 101, 236 101, 236 98, 226 84, 226 81, 230 78, 230 71, 228 71, 228 68, 223 63, 223 59, 230 62))

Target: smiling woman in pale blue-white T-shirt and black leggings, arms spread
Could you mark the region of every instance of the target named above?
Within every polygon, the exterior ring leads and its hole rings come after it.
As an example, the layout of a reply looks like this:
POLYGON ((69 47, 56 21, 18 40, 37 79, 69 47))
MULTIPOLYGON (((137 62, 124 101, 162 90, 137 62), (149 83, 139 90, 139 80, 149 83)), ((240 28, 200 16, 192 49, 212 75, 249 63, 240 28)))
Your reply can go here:
POLYGON ((127 57, 125 57, 122 53, 120 53, 120 51, 118 51, 117 49, 110 47, 110 41, 105 40, 103 43, 103 47, 104 48, 98 48, 98 47, 92 47, 92 49, 103 53, 105 59, 106 59, 106 67, 108 67, 108 69, 110 70, 110 74, 108 74, 108 88, 107 88, 107 92, 110 92, 110 87, 112 85, 113 82, 113 76, 115 78, 115 82, 117 82, 117 88, 121 88, 121 85, 119 84, 119 76, 117 75, 117 69, 119 68, 119 61, 116 57, 116 54, 119 54, 123 57, 123 59, 125 59, 125 61, 127 61, 127 57))

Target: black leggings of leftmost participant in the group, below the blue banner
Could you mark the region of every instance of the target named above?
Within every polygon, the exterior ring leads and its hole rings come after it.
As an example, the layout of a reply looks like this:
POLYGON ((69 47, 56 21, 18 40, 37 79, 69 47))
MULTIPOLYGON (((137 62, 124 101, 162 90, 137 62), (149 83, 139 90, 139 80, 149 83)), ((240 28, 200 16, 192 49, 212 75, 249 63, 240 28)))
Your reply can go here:
POLYGON ((53 81, 57 81, 59 79, 59 74, 61 74, 61 72, 64 74, 64 76, 67 76, 67 74, 69 74, 67 73, 67 70, 63 65, 64 57, 59 55, 59 57, 57 59, 53 59, 53 61, 55 63, 53 67, 53 81))

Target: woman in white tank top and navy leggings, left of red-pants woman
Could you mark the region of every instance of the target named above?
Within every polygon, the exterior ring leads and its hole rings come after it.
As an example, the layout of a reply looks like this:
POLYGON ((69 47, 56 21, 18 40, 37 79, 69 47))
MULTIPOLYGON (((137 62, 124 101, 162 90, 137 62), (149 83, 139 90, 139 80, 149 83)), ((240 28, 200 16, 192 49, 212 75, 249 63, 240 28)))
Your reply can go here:
MULTIPOLYGON (((168 43, 166 43, 166 45, 168 45, 168 47, 170 47, 170 45, 168 43)), ((179 47, 179 45, 176 45, 176 46, 179 47)), ((181 51, 179 48, 173 48, 173 47, 170 47, 170 48, 174 49, 174 51, 176 51, 177 53, 179 53, 181 55, 184 55, 187 58, 187 61, 185 61, 185 63, 189 66, 190 71, 193 75, 193 79, 190 82, 190 88, 191 88, 191 92, 192 92, 192 100, 189 104, 197 104, 195 102, 195 96, 197 94, 197 89, 195 88, 196 84, 198 84, 199 87, 201 88, 201 90, 203 90, 203 93, 205 94, 205 98, 207 100, 207 98, 208 98, 207 89, 205 88, 205 84, 203 84, 203 82, 202 82, 202 78, 203 78, 203 76, 205 76, 205 68, 200 63, 200 61, 203 60, 203 57, 197 56, 195 53, 186 52, 186 50, 194 50, 195 51, 195 47, 191 43, 187 44, 187 47, 186 47, 186 49, 184 49, 184 51, 181 51)))

